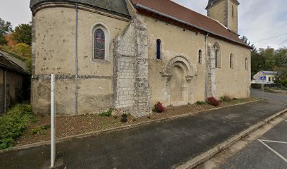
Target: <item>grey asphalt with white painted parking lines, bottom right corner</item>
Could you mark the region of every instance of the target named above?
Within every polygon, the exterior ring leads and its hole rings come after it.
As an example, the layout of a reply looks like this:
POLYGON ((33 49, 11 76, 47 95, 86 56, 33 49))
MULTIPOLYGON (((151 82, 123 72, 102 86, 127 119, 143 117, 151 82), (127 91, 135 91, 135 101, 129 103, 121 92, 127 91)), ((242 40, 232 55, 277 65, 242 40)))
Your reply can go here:
POLYGON ((287 120, 283 120, 260 139, 249 144, 220 169, 286 169, 287 120))

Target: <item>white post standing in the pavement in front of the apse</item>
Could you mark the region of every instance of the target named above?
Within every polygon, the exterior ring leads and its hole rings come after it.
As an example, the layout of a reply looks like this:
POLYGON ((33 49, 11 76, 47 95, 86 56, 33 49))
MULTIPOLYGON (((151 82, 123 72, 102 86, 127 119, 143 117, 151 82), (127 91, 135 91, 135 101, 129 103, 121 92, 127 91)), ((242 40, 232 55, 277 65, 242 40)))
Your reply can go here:
POLYGON ((55 75, 51 75, 51 168, 56 159, 55 75))

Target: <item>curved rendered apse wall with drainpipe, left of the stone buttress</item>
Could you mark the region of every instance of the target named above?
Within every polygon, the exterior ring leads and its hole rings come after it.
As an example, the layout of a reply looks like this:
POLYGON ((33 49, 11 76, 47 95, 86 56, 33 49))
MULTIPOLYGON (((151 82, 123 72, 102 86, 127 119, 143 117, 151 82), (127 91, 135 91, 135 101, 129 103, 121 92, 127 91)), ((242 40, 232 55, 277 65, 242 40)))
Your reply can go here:
MULTIPOLYGON (((32 96, 35 113, 49 113, 50 75, 56 75, 56 114, 75 115, 75 6, 50 6, 33 16, 32 96)), ((113 40, 128 19, 79 5, 78 114, 113 108, 113 40), (106 60, 93 59, 94 25, 106 25, 106 60)))

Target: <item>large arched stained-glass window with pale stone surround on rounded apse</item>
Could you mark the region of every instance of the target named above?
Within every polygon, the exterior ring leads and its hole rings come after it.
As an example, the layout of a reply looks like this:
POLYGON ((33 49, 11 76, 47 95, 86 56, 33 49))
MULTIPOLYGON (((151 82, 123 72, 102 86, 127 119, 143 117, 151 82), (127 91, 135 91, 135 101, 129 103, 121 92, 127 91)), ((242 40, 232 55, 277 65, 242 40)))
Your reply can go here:
POLYGON ((109 61, 110 32, 103 23, 95 23, 91 29, 91 60, 109 61))

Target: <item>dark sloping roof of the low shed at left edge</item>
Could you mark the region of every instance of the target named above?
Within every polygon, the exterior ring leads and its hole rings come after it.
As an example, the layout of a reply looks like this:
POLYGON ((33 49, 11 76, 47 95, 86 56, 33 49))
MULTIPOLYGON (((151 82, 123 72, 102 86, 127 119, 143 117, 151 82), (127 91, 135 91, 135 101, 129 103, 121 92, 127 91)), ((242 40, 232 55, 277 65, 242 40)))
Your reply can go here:
POLYGON ((4 67, 8 70, 13 70, 18 73, 27 74, 25 69, 22 68, 21 65, 18 65, 14 61, 12 61, 9 56, 7 56, 7 53, 4 51, 0 51, 0 67, 4 67))

